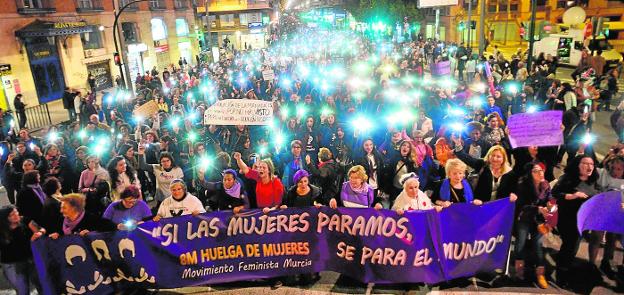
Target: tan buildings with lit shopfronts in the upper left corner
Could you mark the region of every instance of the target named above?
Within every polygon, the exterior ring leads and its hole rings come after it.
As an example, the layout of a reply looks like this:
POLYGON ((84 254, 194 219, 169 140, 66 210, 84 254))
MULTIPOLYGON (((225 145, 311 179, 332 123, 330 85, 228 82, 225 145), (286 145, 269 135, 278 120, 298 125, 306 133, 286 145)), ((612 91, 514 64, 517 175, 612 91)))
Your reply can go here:
MULTIPOLYGON (((0 108, 24 95, 29 106, 60 99, 65 87, 91 91, 114 86, 114 10, 130 0, 0 1, 0 108)), ((194 63, 198 53, 195 15, 189 0, 150 0, 126 9, 120 19, 123 53, 131 72, 194 63), (128 32, 133 28, 134 31, 128 32), (138 57, 136 57, 138 55, 138 57), (133 59, 130 59, 130 58, 133 59)))

